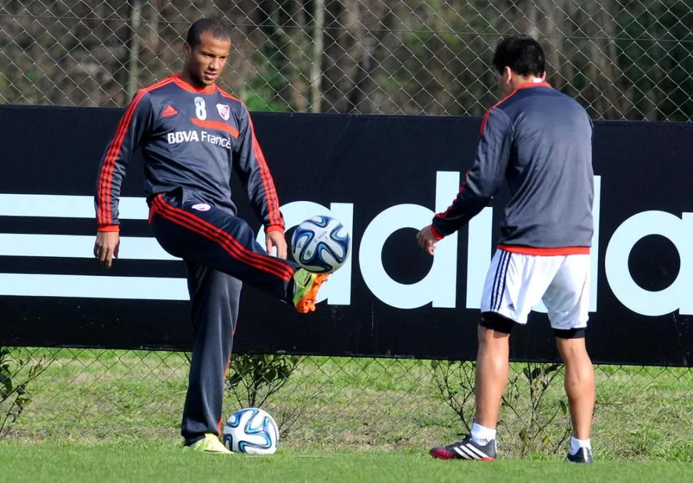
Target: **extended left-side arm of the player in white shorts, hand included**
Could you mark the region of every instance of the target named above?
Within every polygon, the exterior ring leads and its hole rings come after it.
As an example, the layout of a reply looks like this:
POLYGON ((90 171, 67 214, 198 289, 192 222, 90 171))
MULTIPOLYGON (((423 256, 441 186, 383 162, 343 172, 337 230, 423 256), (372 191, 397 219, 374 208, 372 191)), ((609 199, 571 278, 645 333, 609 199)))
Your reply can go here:
POLYGON ((505 178, 511 143, 510 118, 501 109, 492 108, 482 123, 474 166, 467 171, 457 198, 419 232, 419 245, 424 250, 433 254, 434 243, 462 228, 489 203, 505 178))

